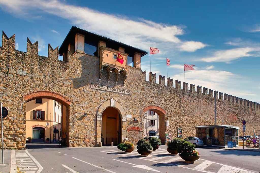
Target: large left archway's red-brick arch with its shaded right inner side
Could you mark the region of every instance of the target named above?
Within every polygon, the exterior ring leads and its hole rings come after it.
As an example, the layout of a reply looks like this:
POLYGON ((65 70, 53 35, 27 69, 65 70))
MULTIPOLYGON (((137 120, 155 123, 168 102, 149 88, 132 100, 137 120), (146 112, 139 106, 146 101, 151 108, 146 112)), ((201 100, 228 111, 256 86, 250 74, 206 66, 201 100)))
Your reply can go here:
MULTIPOLYGON (((22 112, 24 114, 24 116, 26 117, 26 113, 27 113, 27 102, 30 102, 32 100, 35 99, 51 99, 51 100, 55 100, 60 102, 62 105, 64 105, 64 115, 62 116, 62 138, 66 138, 66 145, 69 146, 69 116, 71 114, 71 109, 70 106, 72 105, 72 102, 66 98, 65 96, 63 96, 62 94, 56 93, 56 92, 52 92, 52 91, 36 91, 36 92, 32 92, 26 95, 23 95, 23 97, 21 98, 22 102, 21 102, 21 107, 22 112)), ((46 126, 41 126, 41 125, 35 125, 32 126, 33 128, 44 128, 46 129, 46 126)), ((52 129, 53 130, 53 129, 52 129)), ((49 133, 48 133, 49 134, 49 133)))

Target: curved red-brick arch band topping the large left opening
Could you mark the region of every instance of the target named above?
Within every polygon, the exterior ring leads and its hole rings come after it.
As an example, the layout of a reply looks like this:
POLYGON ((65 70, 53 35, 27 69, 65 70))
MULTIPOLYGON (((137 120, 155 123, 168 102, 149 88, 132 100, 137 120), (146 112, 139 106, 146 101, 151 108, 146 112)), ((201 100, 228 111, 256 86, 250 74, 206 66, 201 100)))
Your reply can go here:
POLYGON ((36 91, 23 96, 26 102, 38 99, 38 98, 48 98, 52 100, 59 101, 63 105, 71 105, 71 101, 67 99, 65 96, 52 92, 52 91, 36 91))

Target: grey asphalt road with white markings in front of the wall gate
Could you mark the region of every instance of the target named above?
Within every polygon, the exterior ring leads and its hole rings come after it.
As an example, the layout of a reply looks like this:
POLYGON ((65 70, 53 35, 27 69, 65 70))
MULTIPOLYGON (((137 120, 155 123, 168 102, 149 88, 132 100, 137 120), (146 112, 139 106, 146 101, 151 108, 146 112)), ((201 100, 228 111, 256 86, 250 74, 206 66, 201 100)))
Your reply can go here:
MULTIPOLYGON (((260 171, 260 152, 231 151, 198 148, 201 157, 194 164, 186 164, 179 156, 171 156, 167 146, 153 152, 148 157, 141 157, 136 151, 130 154, 119 151, 116 147, 91 148, 45 148, 27 149, 28 153, 42 166, 41 172, 87 173, 87 172, 208 172, 208 173, 249 173, 260 171)), ((18 152, 18 151, 17 151, 18 152)), ((26 153, 24 156, 28 157, 26 153)), ((29 173, 37 172, 38 165, 28 159, 34 167, 25 169, 29 173)), ((24 167, 27 166, 23 163, 24 167)), ((19 165, 18 165, 19 167, 19 165)))

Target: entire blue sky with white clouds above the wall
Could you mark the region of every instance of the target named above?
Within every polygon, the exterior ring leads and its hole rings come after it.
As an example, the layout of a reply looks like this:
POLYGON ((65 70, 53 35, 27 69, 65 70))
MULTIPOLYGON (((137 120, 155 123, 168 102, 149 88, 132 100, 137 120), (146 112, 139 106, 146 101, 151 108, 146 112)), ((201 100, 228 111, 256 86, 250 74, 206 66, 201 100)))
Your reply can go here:
MULTIPOLYGON (((0 2, 0 29, 16 34, 26 52, 26 38, 38 40, 39 55, 48 43, 60 46, 72 25, 149 51, 152 72, 260 102, 259 1, 10 1, 0 2)), ((142 57, 149 72, 149 55, 142 57)), ((148 76, 148 73, 147 73, 148 76)))

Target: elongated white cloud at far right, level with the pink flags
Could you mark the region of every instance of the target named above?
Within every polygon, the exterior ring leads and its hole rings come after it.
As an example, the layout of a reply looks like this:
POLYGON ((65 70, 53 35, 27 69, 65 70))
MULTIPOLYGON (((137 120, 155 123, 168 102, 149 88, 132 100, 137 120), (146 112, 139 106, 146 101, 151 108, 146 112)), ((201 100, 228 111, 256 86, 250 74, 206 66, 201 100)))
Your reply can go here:
POLYGON ((234 48, 228 50, 219 50, 216 51, 212 56, 201 58, 200 61, 205 62, 230 62, 242 57, 252 56, 250 52, 259 51, 260 48, 234 48))

